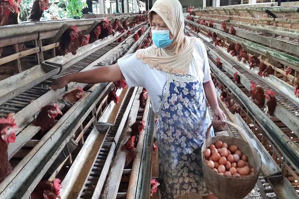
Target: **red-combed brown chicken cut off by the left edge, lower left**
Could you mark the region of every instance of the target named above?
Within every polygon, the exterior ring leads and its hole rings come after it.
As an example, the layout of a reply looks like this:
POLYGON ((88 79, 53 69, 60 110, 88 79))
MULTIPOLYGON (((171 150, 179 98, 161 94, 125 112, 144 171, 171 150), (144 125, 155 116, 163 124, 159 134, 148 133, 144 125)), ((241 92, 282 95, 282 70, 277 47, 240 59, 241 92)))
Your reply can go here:
POLYGON ((8 161, 8 145, 16 141, 16 131, 20 131, 13 119, 14 113, 9 113, 7 118, 0 118, 0 182, 11 174, 11 166, 8 161))

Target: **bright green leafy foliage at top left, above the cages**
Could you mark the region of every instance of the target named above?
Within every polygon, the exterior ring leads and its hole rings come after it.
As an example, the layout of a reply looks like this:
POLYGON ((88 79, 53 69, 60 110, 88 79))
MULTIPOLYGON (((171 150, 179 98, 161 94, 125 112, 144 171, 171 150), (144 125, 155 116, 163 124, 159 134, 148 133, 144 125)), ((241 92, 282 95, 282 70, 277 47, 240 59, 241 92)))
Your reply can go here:
POLYGON ((87 7, 86 0, 60 0, 58 6, 62 6, 68 18, 81 17, 83 8, 87 7), (63 7, 65 5, 65 7, 63 7))

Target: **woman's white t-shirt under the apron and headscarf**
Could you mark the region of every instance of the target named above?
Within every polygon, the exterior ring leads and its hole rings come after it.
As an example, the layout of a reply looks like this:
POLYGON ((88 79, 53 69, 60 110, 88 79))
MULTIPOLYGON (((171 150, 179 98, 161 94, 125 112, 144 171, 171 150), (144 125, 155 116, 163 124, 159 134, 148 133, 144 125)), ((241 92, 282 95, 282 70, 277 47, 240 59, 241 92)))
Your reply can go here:
MULTIPOLYGON (((196 39, 195 48, 193 50, 193 59, 198 67, 199 80, 202 83, 211 80, 210 66, 208 62, 207 51, 205 45, 200 39, 196 39)), ((144 87, 147 89, 151 98, 153 111, 158 114, 168 81, 167 72, 151 69, 148 64, 144 64, 142 60, 137 60, 135 53, 126 55, 118 59, 118 65, 129 87, 144 87)), ((195 64, 191 61, 187 75, 175 75, 178 78, 197 77, 195 64)))

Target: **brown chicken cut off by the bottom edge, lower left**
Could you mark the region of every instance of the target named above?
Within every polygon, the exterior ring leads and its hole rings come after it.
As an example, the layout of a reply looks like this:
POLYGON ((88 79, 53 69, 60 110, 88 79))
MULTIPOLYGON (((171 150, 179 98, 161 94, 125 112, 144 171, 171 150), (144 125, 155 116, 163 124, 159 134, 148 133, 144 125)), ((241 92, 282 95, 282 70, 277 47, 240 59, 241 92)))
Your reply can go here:
POLYGON ((60 179, 56 178, 53 182, 51 181, 40 181, 33 192, 31 193, 31 199, 56 199, 60 198, 61 186, 60 179))

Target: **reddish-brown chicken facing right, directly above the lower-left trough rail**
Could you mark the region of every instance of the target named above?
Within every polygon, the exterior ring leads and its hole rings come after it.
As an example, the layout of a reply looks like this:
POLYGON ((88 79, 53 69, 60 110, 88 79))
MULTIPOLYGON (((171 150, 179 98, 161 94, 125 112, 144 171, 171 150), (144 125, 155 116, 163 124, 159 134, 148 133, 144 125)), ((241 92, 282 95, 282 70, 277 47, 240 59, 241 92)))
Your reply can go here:
POLYGON ((55 118, 58 114, 62 115, 62 112, 56 103, 46 105, 41 109, 36 119, 33 121, 35 126, 41 127, 41 133, 38 136, 39 138, 42 138, 42 136, 56 124, 55 118))

